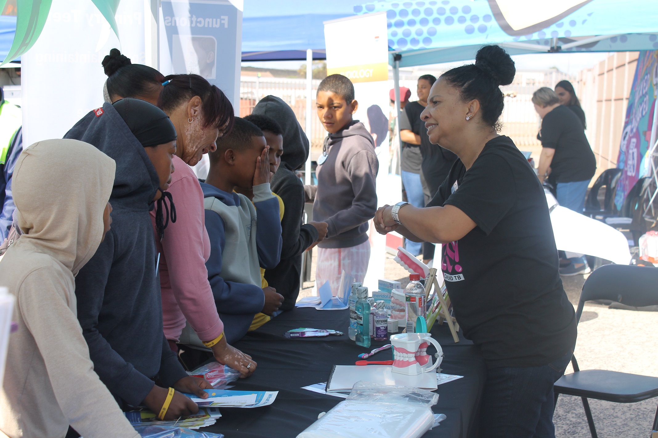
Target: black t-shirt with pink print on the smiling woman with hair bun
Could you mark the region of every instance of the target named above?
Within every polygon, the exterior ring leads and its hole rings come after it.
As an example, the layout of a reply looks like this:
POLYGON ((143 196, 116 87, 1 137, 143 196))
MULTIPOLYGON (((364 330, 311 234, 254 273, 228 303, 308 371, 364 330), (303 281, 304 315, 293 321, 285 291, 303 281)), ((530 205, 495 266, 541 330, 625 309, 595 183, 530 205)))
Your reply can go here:
POLYGON ((457 160, 427 207, 476 223, 443 246, 457 322, 489 368, 543 366, 573 351, 576 315, 562 286, 542 185, 509 137, 487 142, 468 171, 457 160))

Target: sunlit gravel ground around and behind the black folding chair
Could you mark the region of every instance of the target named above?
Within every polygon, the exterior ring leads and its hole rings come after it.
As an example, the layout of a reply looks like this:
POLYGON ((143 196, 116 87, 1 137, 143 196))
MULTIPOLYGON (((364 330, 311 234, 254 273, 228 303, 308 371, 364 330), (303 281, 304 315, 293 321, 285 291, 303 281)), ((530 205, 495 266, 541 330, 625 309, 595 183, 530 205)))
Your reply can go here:
MULTIPOLYGON (((315 256, 314 250, 311 280, 315 280, 315 256)), ((384 272, 386 278, 403 282, 403 287, 409 278, 407 271, 395 263, 392 256, 387 256, 384 272)), ((562 278, 574 308, 578 305, 586 278, 587 275, 562 278)), ((310 296, 313 282, 304 282, 303 286, 299 297, 310 296)), ((607 306, 587 303, 578 324, 575 351, 578 365, 581 370, 613 370, 658 377, 657 332, 658 312, 608 309, 607 306)), ((569 365, 567 373, 572 371, 569 365)), ((649 437, 657 404, 658 399, 630 404, 590 400, 594 424, 601 438, 649 437)), ((578 397, 559 397, 553 423, 556 438, 591 436, 578 397)))

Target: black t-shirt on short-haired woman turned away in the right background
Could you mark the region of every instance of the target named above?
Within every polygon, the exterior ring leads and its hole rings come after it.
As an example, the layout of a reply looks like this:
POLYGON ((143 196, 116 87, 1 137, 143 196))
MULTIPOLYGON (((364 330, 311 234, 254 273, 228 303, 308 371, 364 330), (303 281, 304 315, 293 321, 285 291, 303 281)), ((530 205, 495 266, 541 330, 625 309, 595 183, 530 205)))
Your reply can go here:
POLYGON ((555 149, 551 179, 557 183, 589 181, 596 171, 596 159, 585 137, 582 122, 572 110, 559 105, 544 116, 539 135, 542 146, 555 149))

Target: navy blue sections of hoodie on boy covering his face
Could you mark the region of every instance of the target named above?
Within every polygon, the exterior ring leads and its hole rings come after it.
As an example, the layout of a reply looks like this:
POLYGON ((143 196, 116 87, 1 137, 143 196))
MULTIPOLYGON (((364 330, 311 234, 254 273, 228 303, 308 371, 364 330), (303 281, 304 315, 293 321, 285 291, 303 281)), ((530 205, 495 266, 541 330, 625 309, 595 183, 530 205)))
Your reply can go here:
MULTIPOLYGON (((269 185, 268 185, 269 186, 269 185)), ((215 197, 226 206, 240 206, 236 193, 224 192, 213 185, 201 183, 203 197, 215 197)), ((244 198, 243 198, 244 199, 244 198)), ((271 269, 279 263, 281 253, 281 222, 279 202, 275 197, 254 202, 256 217, 256 245, 259 265, 271 269)), ((212 210, 205 210, 205 225, 210 238, 210 257, 206 262, 208 280, 213 289, 219 317, 224 322, 226 342, 233 343, 245 336, 254 315, 263 310, 265 295, 261 285, 224 281, 222 257, 226 244, 224 221, 212 210)), ((230 257, 230 254, 228 254, 230 257)), ((249 269, 249 267, 245 267, 249 269)))

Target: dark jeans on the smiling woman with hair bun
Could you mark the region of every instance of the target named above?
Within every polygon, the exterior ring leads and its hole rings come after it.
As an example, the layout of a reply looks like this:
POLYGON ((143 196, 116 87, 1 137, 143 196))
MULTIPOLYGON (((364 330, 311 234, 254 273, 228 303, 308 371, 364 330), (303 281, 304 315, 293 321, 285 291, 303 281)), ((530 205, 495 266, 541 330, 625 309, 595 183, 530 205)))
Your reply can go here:
POLYGON ((490 368, 480 406, 483 438, 555 438, 553 383, 572 353, 544 366, 490 368))

